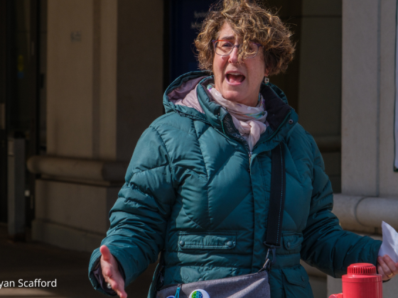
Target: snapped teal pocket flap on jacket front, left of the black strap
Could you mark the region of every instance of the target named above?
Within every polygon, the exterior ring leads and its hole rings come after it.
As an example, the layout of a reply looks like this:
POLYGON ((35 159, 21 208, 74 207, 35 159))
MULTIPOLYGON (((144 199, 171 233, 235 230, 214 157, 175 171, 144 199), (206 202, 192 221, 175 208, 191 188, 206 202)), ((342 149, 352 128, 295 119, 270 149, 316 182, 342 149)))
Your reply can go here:
POLYGON ((236 233, 186 233, 178 236, 178 250, 187 249, 232 249, 236 245, 236 233))

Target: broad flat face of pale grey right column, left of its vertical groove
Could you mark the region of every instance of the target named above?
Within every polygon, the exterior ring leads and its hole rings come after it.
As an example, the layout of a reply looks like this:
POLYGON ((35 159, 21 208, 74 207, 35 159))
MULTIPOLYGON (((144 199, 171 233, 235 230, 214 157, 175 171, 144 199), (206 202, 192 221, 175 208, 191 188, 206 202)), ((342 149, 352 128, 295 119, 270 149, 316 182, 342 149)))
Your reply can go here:
POLYGON ((343 194, 380 192, 380 7, 343 1, 343 194))

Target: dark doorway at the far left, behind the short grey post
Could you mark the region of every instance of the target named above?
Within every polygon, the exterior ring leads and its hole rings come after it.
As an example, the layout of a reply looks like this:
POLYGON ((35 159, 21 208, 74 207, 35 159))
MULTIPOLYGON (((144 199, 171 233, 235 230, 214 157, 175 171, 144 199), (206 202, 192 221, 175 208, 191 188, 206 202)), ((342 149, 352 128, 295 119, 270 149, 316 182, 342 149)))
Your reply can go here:
MULTIPOLYGON (((9 138, 25 139, 25 160, 39 154, 43 145, 40 110, 44 78, 40 54, 45 4, 41 0, 0 2, 0 222, 7 221, 9 138)), ((26 224, 29 226, 34 216, 35 177, 27 169, 25 173, 26 224)))

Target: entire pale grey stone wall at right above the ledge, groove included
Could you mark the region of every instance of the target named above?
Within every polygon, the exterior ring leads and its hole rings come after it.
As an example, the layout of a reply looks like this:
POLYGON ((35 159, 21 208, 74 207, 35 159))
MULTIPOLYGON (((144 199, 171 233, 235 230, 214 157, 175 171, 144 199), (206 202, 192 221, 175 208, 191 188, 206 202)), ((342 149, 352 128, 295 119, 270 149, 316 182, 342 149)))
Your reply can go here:
POLYGON ((343 193, 397 197, 394 0, 343 1, 343 193))

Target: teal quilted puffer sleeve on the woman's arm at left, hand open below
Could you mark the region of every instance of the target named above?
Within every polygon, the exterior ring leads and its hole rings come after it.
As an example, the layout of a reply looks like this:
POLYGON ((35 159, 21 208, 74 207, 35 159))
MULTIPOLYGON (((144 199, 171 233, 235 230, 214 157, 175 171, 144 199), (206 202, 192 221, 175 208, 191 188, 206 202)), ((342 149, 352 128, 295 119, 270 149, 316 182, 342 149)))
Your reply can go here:
MULTIPOLYGON (((150 127, 136 145, 119 198, 109 212, 107 237, 101 243, 122 265, 126 286, 156 262, 163 249, 176 199, 172 176, 166 145, 150 127)), ((93 273, 100 256, 97 248, 91 256, 89 278, 95 289, 104 293, 93 273)))

